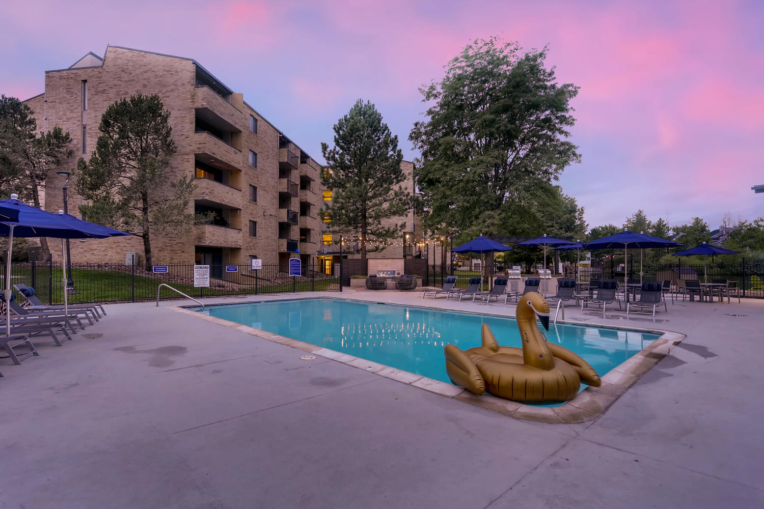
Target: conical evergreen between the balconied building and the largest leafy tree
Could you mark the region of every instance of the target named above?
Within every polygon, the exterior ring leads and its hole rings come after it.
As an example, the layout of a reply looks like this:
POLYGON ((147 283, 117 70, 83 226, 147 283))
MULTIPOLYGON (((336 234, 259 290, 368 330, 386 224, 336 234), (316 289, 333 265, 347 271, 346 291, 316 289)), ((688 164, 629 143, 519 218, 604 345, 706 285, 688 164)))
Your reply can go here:
POLYGON ((412 226, 391 221, 413 206, 411 194, 401 185, 406 178, 400 167, 403 153, 398 137, 368 101, 358 99, 334 132, 334 147, 321 143, 329 166, 321 182, 332 190, 332 203, 325 205, 329 227, 338 233, 360 233, 361 258, 366 259, 367 243, 384 245, 412 226))

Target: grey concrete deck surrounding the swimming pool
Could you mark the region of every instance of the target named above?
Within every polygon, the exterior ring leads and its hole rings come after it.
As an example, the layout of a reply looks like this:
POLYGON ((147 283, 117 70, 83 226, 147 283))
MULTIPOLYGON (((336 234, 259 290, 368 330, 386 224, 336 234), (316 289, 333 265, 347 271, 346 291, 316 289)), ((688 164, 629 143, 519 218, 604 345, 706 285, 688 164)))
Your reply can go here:
MULTIPOLYGON (((420 292, 298 296, 513 314, 420 292)), ((179 304, 109 305, 64 346, 35 338, 39 357, 0 360, 0 507, 764 504, 764 301, 678 301, 656 321, 567 308, 569 321, 687 335, 581 424, 529 423, 302 360, 166 309, 179 304)))

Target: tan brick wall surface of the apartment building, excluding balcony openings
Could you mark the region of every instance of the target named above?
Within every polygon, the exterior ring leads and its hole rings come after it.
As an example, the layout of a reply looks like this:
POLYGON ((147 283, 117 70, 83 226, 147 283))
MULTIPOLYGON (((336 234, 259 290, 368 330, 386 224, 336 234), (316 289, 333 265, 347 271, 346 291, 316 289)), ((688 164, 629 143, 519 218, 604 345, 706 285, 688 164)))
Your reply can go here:
MULTIPOLYGON (((231 186, 219 182, 198 179, 198 188, 193 195, 196 199, 223 203, 240 211, 231 210, 232 226, 241 230, 222 227, 194 227, 189 225, 176 231, 167 231, 152 236, 152 250, 155 263, 193 263, 196 245, 229 247, 224 250, 225 263, 248 263, 251 255, 257 255, 264 263, 278 261, 278 142, 279 131, 267 120, 244 103, 239 93, 230 97, 230 103, 208 87, 196 87, 196 66, 191 60, 135 50, 108 47, 104 65, 91 69, 65 69, 46 72, 45 96, 47 98, 48 129, 60 126, 69 131, 73 138, 76 156, 68 165, 76 166, 76 159, 86 159, 95 148, 99 137, 101 115, 114 101, 140 92, 144 95, 157 94, 165 108, 170 111, 173 140, 177 152, 173 156, 170 174, 194 175, 195 154, 209 154, 218 163, 231 169, 231 186), (87 151, 82 153, 82 81, 88 82, 87 151), (241 134, 232 140, 241 150, 217 140, 210 134, 195 133, 195 108, 209 108, 220 118, 233 124, 241 134), (257 118, 257 134, 249 129, 249 118, 257 118), (249 166, 249 150, 257 153, 257 168, 249 166), (257 187, 257 202, 250 200, 250 185, 257 187), (237 189, 241 191, 237 191, 237 189), (257 236, 250 237, 249 221, 257 221, 257 236)), ((38 127, 43 118, 43 96, 32 98, 29 104, 35 109, 38 127)), ((299 155, 299 148, 296 148, 299 155)), ((297 172, 294 172, 297 179, 297 172)), ((70 213, 79 216, 77 206, 82 199, 74 191, 76 176, 70 180, 70 213)), ((58 211, 63 208, 60 185, 62 179, 52 174, 47 179, 49 192, 45 208, 58 211)), ((298 200, 294 199, 294 207, 298 200)), ((316 208, 319 203, 316 202, 316 208)), ((189 203, 193 212, 193 200, 189 203)), ((294 227, 293 237, 299 237, 299 227, 294 227)), ((316 236, 319 236, 319 232, 316 236)), ((60 259, 53 247, 54 259, 60 259)), ((141 253, 143 242, 138 237, 122 237, 109 240, 76 240, 71 243, 72 259, 75 262, 122 263, 125 253, 141 253)))

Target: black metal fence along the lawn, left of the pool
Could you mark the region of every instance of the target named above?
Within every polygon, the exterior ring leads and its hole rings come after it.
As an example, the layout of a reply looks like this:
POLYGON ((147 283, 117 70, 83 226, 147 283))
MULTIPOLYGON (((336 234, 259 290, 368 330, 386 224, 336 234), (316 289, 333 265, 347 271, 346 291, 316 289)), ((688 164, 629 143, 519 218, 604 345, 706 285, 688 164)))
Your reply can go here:
MULTIPOLYGON (((157 298, 157 288, 166 283, 194 298, 225 295, 259 295, 277 292, 338 291, 339 278, 319 271, 316 264, 303 263, 300 276, 290 276, 277 264, 251 266, 210 266, 209 287, 194 286, 192 264, 168 265, 167 272, 146 272, 143 266, 122 264, 77 263, 72 266, 76 293, 69 294, 72 304, 86 302, 134 302, 157 298)), ((5 270, 2 271, 5 288, 5 270)), ((63 270, 60 264, 24 263, 11 267, 13 285, 31 286, 37 298, 46 304, 63 303, 63 270)), ((162 288, 162 299, 180 298, 162 288)))

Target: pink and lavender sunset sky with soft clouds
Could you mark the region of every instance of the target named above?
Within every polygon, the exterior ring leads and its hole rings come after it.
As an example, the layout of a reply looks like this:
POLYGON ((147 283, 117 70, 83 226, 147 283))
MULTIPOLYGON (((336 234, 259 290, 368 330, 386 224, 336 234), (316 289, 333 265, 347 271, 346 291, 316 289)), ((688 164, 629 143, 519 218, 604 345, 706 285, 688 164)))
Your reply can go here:
POLYGON ((581 87, 560 179, 590 226, 764 215, 764 2, 18 2, 3 7, 0 92, 44 91, 44 71, 106 45, 187 56, 243 92, 303 150, 355 99, 374 102, 406 159, 417 88, 474 38, 549 44, 581 87))

